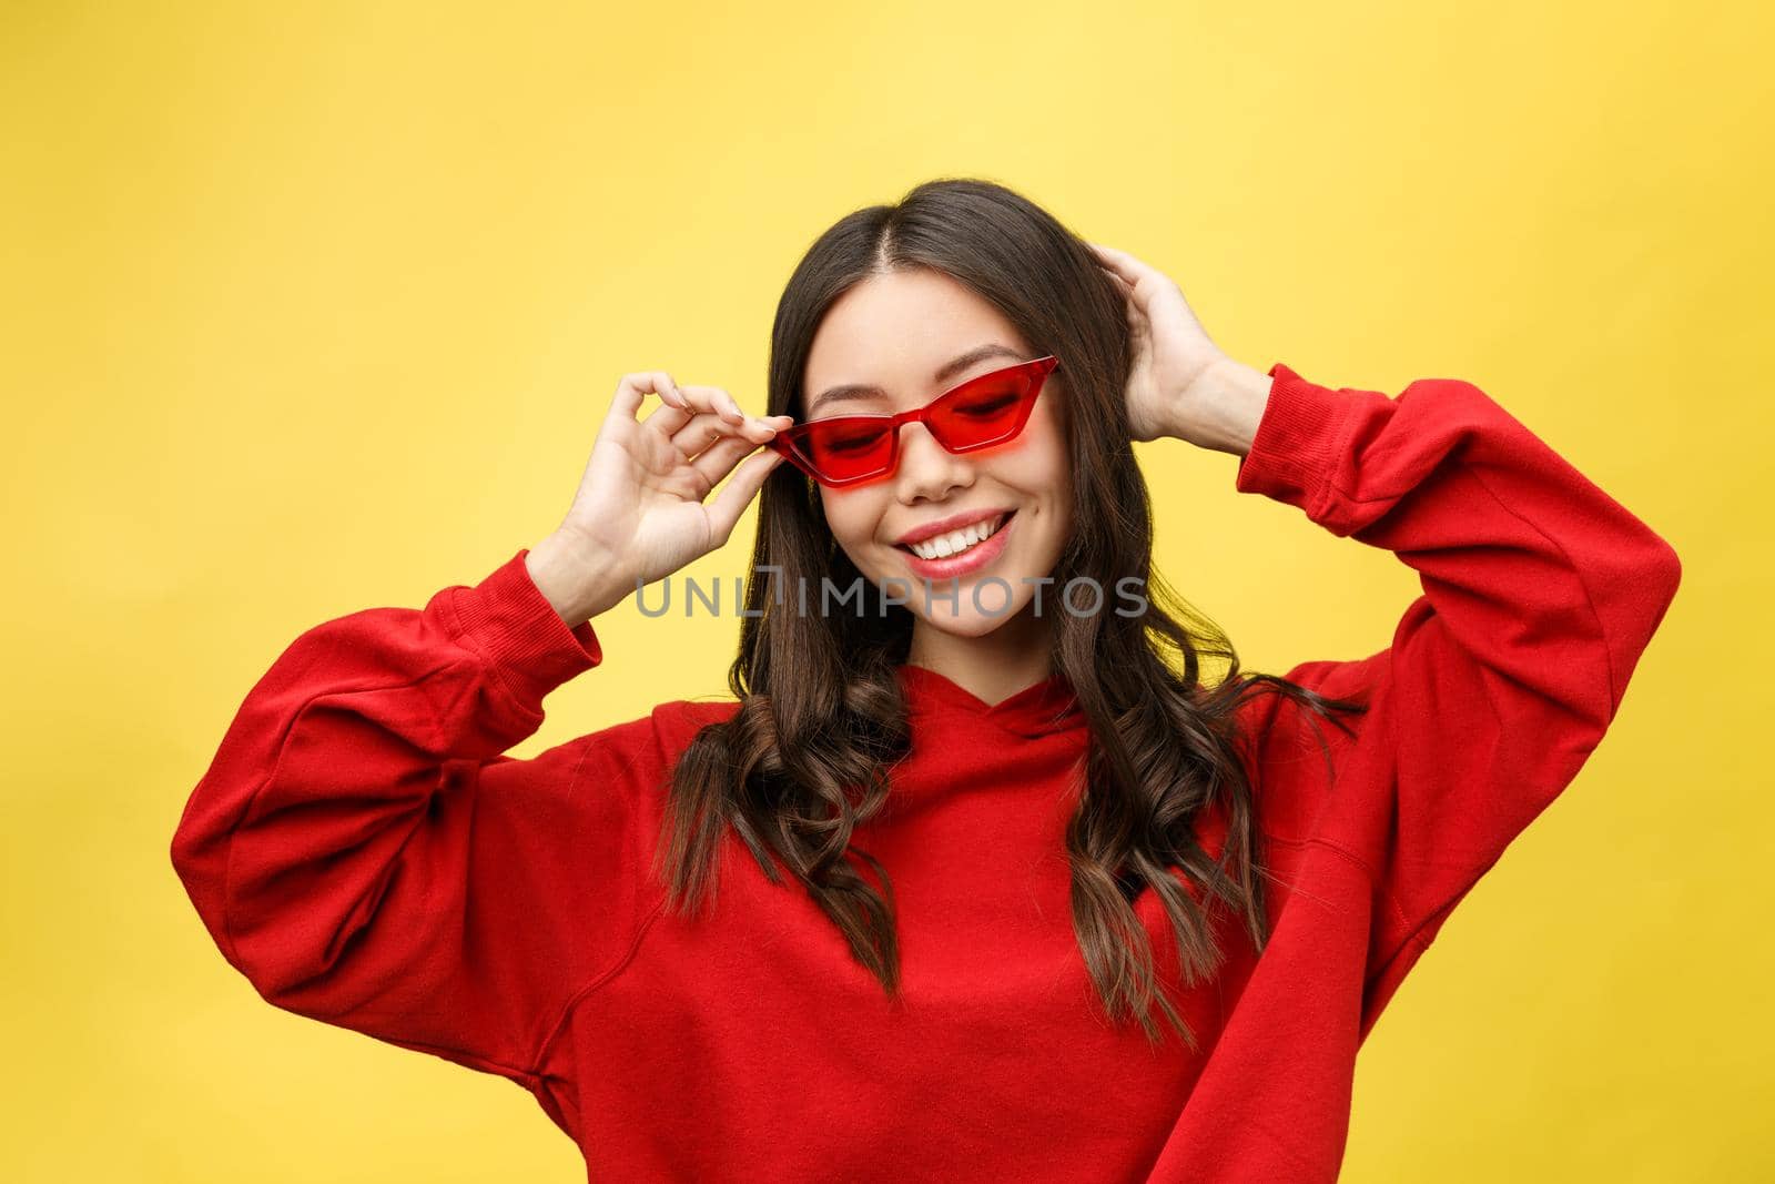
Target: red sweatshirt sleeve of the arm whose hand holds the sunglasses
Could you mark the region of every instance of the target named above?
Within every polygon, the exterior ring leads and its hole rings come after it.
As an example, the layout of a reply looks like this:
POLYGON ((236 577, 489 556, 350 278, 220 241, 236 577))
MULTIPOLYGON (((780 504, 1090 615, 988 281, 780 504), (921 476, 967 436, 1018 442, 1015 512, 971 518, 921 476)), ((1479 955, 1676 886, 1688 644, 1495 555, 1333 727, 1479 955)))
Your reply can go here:
POLYGON ((302 634, 192 792, 172 864, 268 1003, 534 1092, 570 999, 637 928, 634 801, 666 753, 655 714, 502 756, 602 660, 525 554, 302 634))

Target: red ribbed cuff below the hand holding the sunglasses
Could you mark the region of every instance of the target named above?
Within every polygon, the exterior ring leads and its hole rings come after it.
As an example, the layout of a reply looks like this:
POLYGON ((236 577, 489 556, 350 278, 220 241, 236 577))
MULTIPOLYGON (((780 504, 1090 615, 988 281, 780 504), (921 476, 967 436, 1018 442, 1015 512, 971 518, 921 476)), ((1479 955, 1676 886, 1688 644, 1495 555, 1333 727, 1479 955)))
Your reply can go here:
POLYGON ((525 706, 604 660, 604 648, 584 621, 568 628, 524 564, 529 547, 493 568, 472 588, 454 588, 451 609, 460 637, 481 653, 501 682, 525 706))

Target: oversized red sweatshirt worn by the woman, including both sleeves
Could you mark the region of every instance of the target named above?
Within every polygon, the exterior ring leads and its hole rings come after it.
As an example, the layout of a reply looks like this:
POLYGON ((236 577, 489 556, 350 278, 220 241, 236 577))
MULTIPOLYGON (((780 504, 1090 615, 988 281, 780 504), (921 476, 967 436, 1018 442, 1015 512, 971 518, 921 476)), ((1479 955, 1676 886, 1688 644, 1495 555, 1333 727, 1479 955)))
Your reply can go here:
MULTIPOLYGON (((1090 733, 1061 676, 987 705, 900 667, 912 753, 856 833, 893 882, 895 1006, 731 833, 714 914, 662 909, 666 777, 735 703, 502 756, 602 660, 524 550, 296 637, 172 863, 266 1001, 517 1081, 593 1180, 1333 1180, 1358 1046, 1603 738, 1681 566, 1471 383, 1269 375, 1235 488, 1395 552, 1424 595, 1386 650, 1287 675, 1370 701, 1356 738, 1273 694, 1242 708, 1280 880, 1264 955, 1223 918, 1219 976, 1180 992, 1136 900, 1196 1051, 1097 1008, 1063 847, 1090 733)), ((1218 856, 1219 820, 1198 833, 1218 856)))

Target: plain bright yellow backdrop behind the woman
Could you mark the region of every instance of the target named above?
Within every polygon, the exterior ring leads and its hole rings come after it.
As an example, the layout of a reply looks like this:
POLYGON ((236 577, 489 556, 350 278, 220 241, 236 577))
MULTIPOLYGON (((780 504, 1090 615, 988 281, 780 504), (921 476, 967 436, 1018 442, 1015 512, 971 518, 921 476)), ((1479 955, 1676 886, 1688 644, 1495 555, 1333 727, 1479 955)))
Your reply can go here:
MULTIPOLYGON (((1365 1046, 1344 1179, 1770 1179, 1770 25, 4 5, 0 1177, 584 1177, 513 1085, 264 1005, 174 877, 179 809, 296 634, 538 541, 625 371, 761 410, 813 236, 964 174, 1161 266, 1260 369, 1479 383, 1683 557, 1613 731, 1365 1046)), ((1232 456, 1141 460, 1163 570, 1250 669, 1388 643, 1397 559, 1232 456)), ((721 694, 737 627, 630 598, 515 753, 721 694)))

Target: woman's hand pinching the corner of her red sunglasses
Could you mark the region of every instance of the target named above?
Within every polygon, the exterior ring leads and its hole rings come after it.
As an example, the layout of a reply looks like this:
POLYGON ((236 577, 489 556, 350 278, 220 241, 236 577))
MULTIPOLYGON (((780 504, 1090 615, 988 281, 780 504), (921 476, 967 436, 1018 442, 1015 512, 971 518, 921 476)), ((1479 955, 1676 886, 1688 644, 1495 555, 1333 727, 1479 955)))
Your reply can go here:
POLYGON ((579 625, 637 582, 715 550, 783 460, 769 449, 747 454, 792 422, 747 415, 721 387, 678 385, 664 371, 623 375, 566 518, 527 556, 531 579, 568 625, 579 625), (637 421, 648 392, 664 405, 637 421))

